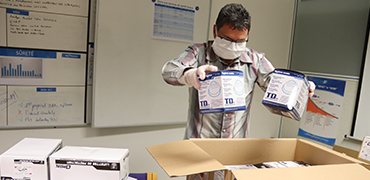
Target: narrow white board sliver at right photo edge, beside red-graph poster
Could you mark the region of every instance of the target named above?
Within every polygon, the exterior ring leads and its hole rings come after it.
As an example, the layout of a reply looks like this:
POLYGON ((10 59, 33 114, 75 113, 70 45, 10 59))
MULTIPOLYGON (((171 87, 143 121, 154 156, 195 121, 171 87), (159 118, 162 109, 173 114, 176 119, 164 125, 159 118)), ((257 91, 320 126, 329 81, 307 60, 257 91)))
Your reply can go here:
POLYGON ((359 91, 359 100, 357 105, 357 114, 355 118, 355 128, 353 137, 363 140, 365 136, 370 136, 370 41, 367 44, 366 58, 364 63, 361 88, 359 91))

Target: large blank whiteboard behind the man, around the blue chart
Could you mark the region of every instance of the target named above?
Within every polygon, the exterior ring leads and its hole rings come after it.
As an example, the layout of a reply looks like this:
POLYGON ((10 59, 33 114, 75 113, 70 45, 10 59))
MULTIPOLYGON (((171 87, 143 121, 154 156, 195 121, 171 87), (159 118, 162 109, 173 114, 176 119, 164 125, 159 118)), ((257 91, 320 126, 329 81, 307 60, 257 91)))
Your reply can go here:
POLYGON ((155 2, 195 11, 193 42, 207 40, 210 1, 98 0, 94 44, 93 127, 186 122, 187 88, 167 85, 165 62, 191 44, 152 38, 155 2))

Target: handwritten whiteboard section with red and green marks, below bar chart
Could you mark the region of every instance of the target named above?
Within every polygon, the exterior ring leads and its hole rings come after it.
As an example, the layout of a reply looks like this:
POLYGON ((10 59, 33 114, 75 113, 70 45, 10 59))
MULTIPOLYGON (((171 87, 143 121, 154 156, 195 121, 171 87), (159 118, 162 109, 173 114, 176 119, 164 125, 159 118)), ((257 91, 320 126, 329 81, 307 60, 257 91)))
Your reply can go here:
POLYGON ((80 125, 85 87, 9 86, 8 126, 80 125), (49 92, 52 89, 52 92, 49 92))

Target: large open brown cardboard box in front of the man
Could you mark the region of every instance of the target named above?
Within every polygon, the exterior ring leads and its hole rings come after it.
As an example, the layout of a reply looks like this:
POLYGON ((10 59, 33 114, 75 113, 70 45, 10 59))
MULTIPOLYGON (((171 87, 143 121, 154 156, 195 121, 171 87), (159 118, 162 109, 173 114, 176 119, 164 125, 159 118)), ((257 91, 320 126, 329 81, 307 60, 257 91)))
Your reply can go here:
MULTIPOLYGON (((225 171, 226 180, 365 180, 361 161, 300 139, 190 139, 147 147, 170 177, 225 171), (304 161, 309 167, 242 169, 225 165, 304 161)), ((212 176, 209 176, 212 179, 212 176)))

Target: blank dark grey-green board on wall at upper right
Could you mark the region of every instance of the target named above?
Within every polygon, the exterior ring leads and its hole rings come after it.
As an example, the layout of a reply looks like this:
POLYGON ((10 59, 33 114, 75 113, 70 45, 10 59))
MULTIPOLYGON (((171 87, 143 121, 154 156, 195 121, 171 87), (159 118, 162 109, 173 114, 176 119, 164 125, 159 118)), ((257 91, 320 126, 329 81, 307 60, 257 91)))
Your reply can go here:
POLYGON ((299 0, 290 68, 360 76, 368 0, 299 0))

